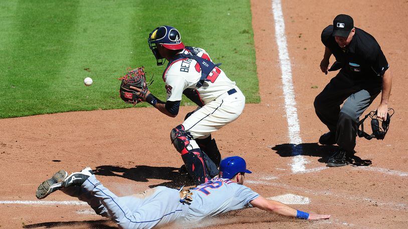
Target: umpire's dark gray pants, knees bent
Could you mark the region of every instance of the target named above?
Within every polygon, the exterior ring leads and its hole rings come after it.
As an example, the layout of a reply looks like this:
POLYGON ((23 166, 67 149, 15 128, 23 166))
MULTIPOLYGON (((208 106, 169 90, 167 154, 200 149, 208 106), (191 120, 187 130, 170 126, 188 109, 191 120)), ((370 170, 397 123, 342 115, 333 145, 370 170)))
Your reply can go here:
POLYGON ((380 76, 348 76, 340 70, 314 100, 317 116, 348 153, 354 153, 359 117, 381 91, 381 84, 380 76))

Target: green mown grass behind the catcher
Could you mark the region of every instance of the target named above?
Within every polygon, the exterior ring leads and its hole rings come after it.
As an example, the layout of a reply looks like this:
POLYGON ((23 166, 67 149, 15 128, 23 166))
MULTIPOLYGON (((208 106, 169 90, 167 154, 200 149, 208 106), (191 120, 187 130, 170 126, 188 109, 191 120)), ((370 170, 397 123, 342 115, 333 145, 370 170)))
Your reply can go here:
POLYGON ((130 107, 116 79, 128 66, 154 74, 149 88, 165 100, 164 66, 147 45, 162 24, 222 62, 247 102, 260 101, 249 0, 2 0, 0 21, 0 118, 130 107))

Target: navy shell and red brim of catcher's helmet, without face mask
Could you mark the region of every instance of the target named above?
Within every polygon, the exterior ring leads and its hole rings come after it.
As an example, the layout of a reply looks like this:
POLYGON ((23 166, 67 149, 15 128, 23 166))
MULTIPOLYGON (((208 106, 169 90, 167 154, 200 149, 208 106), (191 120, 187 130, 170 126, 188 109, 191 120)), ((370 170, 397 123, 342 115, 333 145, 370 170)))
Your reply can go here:
POLYGON ((149 43, 161 44, 167 49, 183 49, 180 32, 173 26, 161 25, 149 34, 149 43))

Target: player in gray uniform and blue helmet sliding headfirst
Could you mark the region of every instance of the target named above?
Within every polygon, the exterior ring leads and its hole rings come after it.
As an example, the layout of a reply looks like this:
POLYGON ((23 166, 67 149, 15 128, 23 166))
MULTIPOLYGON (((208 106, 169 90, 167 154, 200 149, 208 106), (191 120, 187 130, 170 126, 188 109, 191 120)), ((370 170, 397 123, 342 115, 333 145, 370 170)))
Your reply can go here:
POLYGON ((296 210, 281 202, 269 200, 243 185, 246 168, 242 157, 230 156, 220 163, 218 178, 189 190, 158 186, 144 192, 118 197, 96 179, 91 168, 71 175, 60 170, 40 184, 37 198, 61 189, 86 201, 97 214, 116 221, 121 228, 151 228, 172 222, 189 223, 248 207, 302 219, 327 219, 330 215, 296 210))

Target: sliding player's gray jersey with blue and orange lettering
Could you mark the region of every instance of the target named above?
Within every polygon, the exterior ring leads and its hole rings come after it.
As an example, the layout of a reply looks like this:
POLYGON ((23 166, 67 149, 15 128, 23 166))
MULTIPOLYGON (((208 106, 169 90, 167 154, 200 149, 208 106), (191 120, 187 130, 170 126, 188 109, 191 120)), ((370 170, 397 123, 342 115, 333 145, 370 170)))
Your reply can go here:
POLYGON ((250 201, 259 196, 251 188, 226 178, 213 178, 190 190, 192 201, 185 215, 188 221, 252 207, 250 201))

